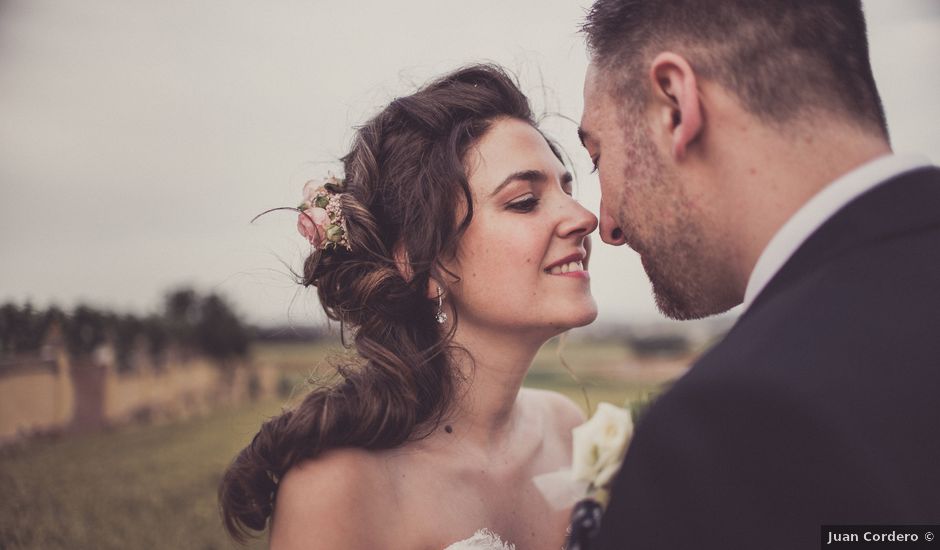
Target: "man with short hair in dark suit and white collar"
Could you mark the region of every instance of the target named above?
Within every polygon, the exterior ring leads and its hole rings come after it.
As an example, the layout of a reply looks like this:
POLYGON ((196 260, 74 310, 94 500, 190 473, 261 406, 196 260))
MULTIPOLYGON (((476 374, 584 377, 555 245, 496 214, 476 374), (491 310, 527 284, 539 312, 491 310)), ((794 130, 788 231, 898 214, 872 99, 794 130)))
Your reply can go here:
POLYGON ((603 240, 672 318, 743 303, 637 426, 597 546, 940 522, 940 170, 891 152, 859 2, 597 0, 584 31, 603 240))

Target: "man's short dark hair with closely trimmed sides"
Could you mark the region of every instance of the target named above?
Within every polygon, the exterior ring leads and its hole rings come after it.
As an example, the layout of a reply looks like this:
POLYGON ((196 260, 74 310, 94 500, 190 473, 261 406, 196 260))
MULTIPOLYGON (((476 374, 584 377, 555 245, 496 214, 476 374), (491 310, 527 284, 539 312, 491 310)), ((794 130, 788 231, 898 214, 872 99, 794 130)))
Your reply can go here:
POLYGON ((887 137, 859 0, 597 0, 582 30, 634 108, 652 56, 671 50, 764 120, 822 110, 887 137))

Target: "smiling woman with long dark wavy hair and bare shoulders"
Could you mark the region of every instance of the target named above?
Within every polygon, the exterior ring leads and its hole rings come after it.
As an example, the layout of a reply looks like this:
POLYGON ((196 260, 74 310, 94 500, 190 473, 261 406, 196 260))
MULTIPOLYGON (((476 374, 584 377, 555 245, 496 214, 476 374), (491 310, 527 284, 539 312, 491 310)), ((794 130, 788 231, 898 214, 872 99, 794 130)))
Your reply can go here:
POLYGON ((521 386, 542 344, 597 315, 596 217, 490 65, 396 99, 343 163, 305 188, 303 284, 362 361, 238 454, 226 528, 270 526, 272 550, 562 547, 570 509, 533 478, 570 465, 583 417, 521 386))

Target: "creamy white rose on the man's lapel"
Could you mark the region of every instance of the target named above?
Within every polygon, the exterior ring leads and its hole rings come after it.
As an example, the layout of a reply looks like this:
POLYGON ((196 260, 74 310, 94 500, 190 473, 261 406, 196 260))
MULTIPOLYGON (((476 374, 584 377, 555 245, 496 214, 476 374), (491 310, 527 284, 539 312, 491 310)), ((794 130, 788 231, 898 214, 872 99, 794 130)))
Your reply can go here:
POLYGON ((600 403, 594 416, 572 431, 574 456, 571 474, 588 484, 588 497, 606 505, 610 484, 620 471, 633 435, 630 411, 600 403))

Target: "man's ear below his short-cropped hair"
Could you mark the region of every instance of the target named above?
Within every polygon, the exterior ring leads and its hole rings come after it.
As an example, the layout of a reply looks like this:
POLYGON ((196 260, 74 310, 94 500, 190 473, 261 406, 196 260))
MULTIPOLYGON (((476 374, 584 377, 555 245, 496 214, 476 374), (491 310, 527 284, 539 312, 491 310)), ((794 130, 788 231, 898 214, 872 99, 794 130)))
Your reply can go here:
POLYGON ((681 161, 702 132, 695 72, 681 55, 663 52, 653 59, 649 77, 657 110, 654 120, 669 137, 673 158, 681 161))

